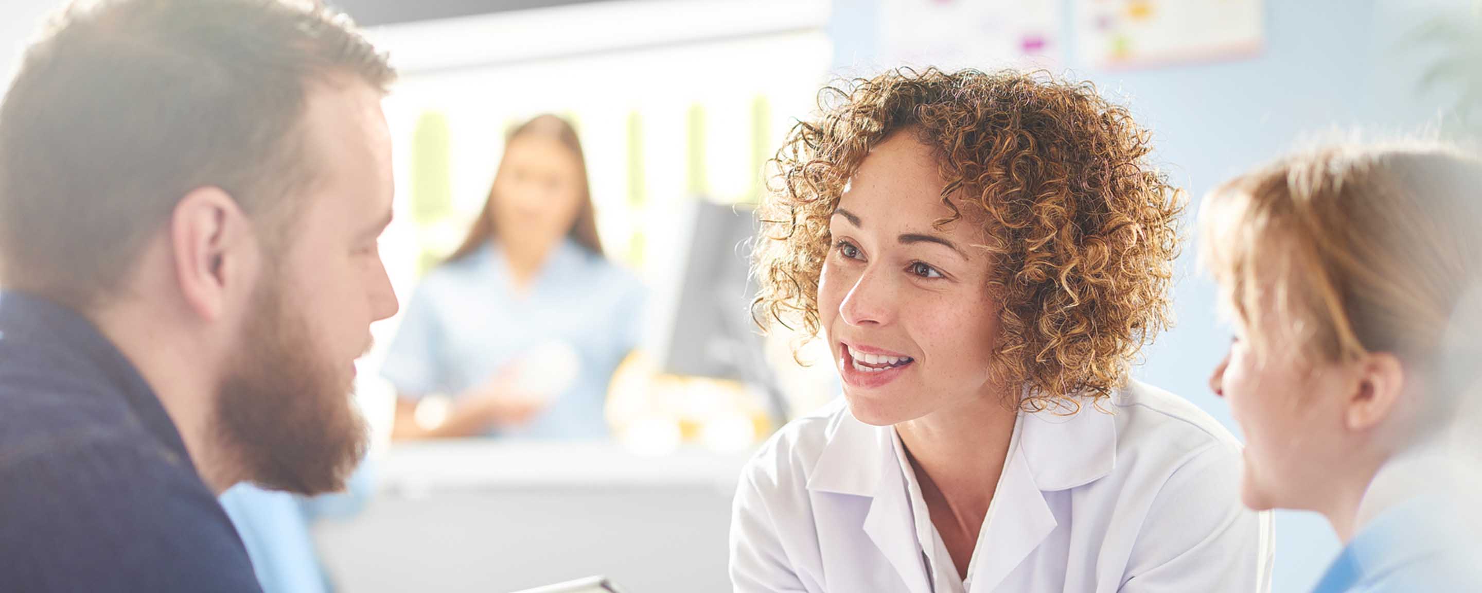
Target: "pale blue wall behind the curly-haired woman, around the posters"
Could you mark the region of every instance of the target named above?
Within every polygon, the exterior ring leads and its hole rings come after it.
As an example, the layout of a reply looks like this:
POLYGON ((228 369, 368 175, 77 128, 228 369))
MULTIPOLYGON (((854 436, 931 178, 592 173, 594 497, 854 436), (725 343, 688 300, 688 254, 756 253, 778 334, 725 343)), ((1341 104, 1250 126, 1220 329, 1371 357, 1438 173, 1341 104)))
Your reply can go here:
MULTIPOLYGON (((836 0, 830 31, 837 71, 882 65, 876 33, 880 1, 836 0)), ((1125 71, 1077 64, 1070 34, 1073 4, 1063 4, 1069 76, 1120 96, 1153 129, 1159 160, 1190 190, 1193 242, 1197 202, 1223 179, 1313 135, 1355 127, 1390 133, 1414 129, 1436 113, 1435 101, 1411 90, 1423 56, 1399 52, 1398 44, 1420 15, 1443 3, 1267 0, 1266 47, 1258 56, 1125 71)), ((1215 319, 1214 286, 1197 274, 1194 254, 1190 243, 1180 259, 1178 326, 1146 353, 1138 374, 1235 430, 1227 406, 1208 388, 1209 369, 1230 338, 1215 319)), ((1337 554, 1338 541, 1326 520, 1312 513, 1277 513, 1276 529, 1273 590, 1307 592, 1337 554)))

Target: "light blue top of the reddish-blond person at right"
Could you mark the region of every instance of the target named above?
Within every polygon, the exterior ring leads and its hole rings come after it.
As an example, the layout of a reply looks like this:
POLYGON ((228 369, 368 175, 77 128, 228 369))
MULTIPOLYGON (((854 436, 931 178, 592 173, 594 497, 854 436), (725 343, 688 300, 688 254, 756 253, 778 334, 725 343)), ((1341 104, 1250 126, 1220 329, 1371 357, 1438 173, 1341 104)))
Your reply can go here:
POLYGON ((1476 501, 1423 495, 1377 514, 1343 549, 1313 593, 1482 592, 1476 501))

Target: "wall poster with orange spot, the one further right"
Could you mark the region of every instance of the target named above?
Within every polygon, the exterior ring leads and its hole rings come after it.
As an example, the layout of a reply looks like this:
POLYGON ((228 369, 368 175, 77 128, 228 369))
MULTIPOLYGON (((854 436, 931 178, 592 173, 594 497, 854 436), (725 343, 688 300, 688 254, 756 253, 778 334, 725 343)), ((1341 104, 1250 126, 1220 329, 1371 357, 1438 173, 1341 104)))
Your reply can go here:
POLYGON ((1229 59, 1263 46, 1261 0, 1076 0, 1080 62, 1095 68, 1229 59))

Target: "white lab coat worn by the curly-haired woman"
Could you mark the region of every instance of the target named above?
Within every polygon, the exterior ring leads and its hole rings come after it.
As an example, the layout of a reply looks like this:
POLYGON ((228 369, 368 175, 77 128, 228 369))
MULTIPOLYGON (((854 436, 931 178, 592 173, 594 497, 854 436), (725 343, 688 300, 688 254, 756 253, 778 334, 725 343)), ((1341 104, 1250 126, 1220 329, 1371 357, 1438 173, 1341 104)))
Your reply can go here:
MULTIPOLYGON (((969 593, 1266 592, 1272 517, 1240 504, 1230 433, 1144 384, 1103 408, 1020 414, 969 593)), ((894 439, 842 400, 780 430, 737 488, 735 592, 932 593, 894 439)))

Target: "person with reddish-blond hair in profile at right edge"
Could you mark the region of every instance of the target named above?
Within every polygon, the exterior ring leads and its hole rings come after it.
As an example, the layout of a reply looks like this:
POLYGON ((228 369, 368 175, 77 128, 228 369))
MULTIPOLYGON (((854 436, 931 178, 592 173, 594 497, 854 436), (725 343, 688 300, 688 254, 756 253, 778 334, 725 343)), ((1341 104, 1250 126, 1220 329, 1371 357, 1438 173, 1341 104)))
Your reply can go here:
POLYGON ((1319 592, 1482 590, 1482 160, 1292 156, 1215 190, 1200 224, 1245 504, 1328 517, 1347 547, 1319 592))

